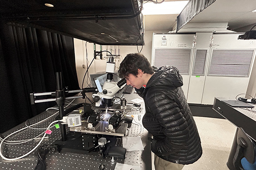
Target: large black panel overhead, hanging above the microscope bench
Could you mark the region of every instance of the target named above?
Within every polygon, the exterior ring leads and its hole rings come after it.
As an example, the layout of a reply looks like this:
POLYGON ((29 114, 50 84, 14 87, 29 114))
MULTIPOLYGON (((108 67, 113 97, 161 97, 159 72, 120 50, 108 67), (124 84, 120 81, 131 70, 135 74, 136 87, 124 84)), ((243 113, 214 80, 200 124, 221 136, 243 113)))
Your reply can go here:
POLYGON ((138 0, 3 0, 0 15, 11 24, 101 45, 142 45, 140 8, 138 0))

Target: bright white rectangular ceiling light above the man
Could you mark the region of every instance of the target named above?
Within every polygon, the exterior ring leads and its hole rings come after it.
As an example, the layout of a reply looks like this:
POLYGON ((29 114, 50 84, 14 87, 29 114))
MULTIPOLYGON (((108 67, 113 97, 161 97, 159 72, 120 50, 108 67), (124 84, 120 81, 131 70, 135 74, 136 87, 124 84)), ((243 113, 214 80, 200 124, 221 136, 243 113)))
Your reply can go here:
POLYGON ((179 14, 187 5, 188 0, 169 1, 159 4, 145 3, 143 5, 143 15, 163 15, 163 14, 179 14))

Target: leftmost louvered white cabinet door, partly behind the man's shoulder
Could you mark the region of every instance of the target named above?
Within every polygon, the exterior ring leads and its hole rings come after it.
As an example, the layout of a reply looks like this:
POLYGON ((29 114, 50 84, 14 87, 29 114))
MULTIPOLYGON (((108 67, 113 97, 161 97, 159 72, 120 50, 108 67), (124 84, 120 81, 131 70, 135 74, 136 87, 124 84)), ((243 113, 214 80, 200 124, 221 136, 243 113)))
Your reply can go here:
POLYGON ((188 95, 188 84, 193 58, 193 40, 195 34, 154 34, 152 48, 152 66, 175 66, 183 77, 185 96, 188 95), (162 43, 164 40, 165 43, 162 43))

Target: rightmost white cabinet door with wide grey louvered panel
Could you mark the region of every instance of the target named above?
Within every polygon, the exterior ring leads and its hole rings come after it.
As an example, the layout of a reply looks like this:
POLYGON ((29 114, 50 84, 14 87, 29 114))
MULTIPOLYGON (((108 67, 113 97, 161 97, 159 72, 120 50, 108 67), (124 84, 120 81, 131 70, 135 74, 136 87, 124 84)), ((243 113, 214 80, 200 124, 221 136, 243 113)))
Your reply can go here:
POLYGON ((214 97, 235 99, 246 93, 254 56, 255 49, 212 49, 202 104, 212 104, 214 97))

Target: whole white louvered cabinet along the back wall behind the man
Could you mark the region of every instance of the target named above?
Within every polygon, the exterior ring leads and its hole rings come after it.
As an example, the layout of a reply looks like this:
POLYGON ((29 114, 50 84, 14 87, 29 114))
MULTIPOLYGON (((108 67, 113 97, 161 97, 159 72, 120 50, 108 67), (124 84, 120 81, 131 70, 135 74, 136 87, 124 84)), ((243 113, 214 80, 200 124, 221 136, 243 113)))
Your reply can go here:
POLYGON ((214 97, 234 99, 247 91, 256 48, 255 40, 238 40, 239 35, 154 33, 152 65, 180 70, 188 103, 213 104, 214 97))

